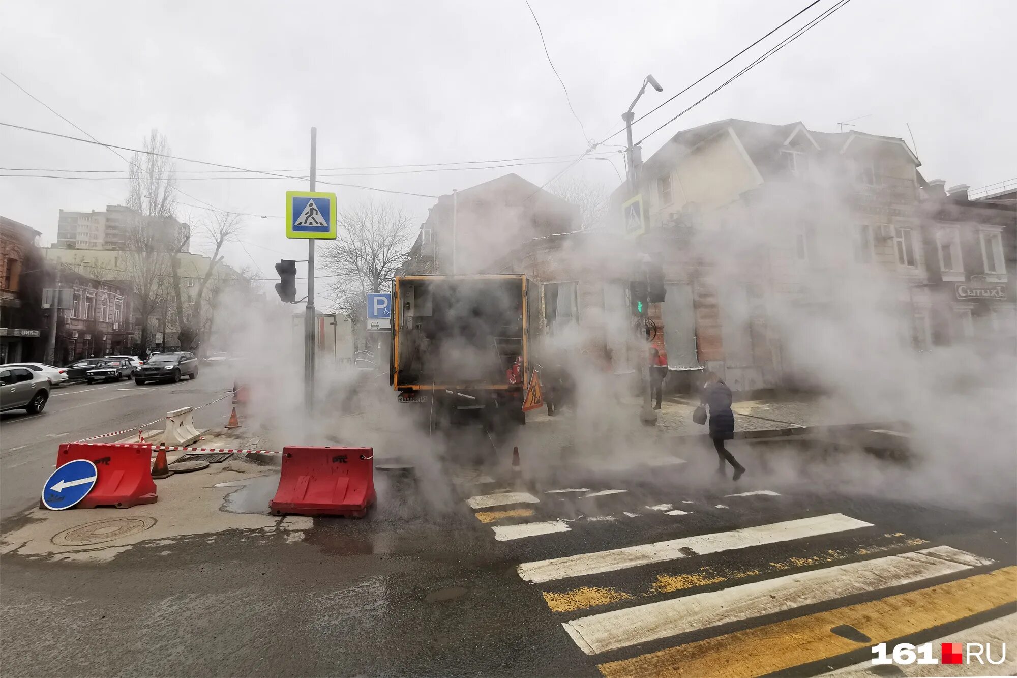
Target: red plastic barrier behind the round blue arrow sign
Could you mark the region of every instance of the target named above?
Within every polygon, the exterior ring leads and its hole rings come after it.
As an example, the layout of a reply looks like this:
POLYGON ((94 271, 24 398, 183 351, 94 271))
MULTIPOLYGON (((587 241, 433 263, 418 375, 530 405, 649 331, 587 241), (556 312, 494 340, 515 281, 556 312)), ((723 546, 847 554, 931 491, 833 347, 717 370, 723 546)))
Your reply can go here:
POLYGON ((152 443, 61 445, 57 451, 57 466, 74 459, 88 459, 99 471, 96 487, 78 504, 81 508, 129 508, 159 501, 156 483, 152 479, 152 443))

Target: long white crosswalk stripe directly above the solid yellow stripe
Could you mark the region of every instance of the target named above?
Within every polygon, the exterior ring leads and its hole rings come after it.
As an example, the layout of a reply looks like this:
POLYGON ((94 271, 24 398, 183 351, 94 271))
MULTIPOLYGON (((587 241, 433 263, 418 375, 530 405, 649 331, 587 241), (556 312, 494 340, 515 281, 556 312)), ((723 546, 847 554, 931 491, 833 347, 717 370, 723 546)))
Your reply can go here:
POLYGON ((562 626, 580 649, 596 655, 845 596, 955 574, 974 567, 959 562, 969 558, 982 565, 993 562, 950 547, 934 547, 605 612, 562 626))

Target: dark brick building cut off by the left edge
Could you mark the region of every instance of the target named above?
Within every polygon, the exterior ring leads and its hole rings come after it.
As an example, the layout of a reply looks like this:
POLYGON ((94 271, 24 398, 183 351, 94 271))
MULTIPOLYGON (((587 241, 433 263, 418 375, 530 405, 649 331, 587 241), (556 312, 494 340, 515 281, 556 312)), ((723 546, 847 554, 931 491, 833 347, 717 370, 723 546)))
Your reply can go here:
POLYGON ((40 235, 0 217, 0 363, 42 359, 40 235))

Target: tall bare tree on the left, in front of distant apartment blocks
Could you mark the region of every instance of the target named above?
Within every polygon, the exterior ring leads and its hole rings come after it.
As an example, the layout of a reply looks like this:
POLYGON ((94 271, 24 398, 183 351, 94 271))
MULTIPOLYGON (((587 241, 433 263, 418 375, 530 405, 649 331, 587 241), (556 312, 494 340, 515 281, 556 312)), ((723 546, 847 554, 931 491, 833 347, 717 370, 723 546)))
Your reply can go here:
MULTIPOLYGON (((153 129, 130 160, 127 207, 136 214, 124 234, 127 276, 134 288, 141 324, 141 348, 148 345, 152 314, 166 302, 170 285, 169 252, 179 247, 176 168, 166 136, 153 129)), ((165 343, 166 337, 163 337, 165 343)))

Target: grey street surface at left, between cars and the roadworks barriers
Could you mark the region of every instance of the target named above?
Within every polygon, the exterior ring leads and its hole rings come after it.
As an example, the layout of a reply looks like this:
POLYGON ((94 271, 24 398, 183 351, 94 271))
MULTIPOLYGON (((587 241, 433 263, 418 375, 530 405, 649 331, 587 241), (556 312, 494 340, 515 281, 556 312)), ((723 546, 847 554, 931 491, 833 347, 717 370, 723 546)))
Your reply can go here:
MULTIPOLYGON (((60 443, 149 423, 170 410, 208 403, 228 388, 232 388, 231 378, 220 368, 201 370, 196 380, 185 378, 178 384, 79 382, 53 389, 39 414, 0 412, 0 519, 38 503, 60 443)), ((226 398, 196 411, 194 422, 198 428, 219 427, 229 413, 230 399, 226 398)))

